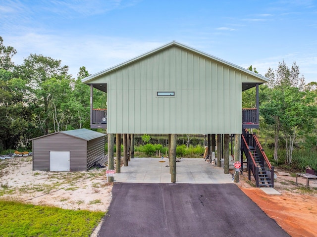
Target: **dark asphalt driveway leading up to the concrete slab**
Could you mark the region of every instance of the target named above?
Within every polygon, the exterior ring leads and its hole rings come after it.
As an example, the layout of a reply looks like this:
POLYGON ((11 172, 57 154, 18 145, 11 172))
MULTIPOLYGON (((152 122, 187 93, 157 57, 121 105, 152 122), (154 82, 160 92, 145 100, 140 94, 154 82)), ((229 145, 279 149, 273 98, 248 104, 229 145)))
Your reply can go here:
POLYGON ((115 183, 100 237, 289 237, 234 184, 115 183))

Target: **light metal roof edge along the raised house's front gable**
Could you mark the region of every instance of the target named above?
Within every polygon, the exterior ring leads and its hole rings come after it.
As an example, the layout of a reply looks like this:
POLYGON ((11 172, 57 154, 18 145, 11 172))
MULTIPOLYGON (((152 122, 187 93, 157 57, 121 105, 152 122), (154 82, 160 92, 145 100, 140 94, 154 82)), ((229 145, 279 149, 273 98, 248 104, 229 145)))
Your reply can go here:
POLYGON ((137 57, 135 57, 135 58, 133 58, 133 59, 130 59, 130 60, 128 60, 128 61, 125 61, 125 62, 123 62, 123 63, 121 63, 121 64, 118 64, 118 65, 116 65, 116 66, 110 67, 110 68, 108 68, 108 69, 106 69, 106 70, 103 70, 103 71, 98 72, 98 73, 96 73, 96 74, 93 74, 93 75, 91 75, 91 76, 88 76, 88 77, 82 79, 81 81, 82 81, 82 83, 91 84, 91 83, 93 83, 93 81, 94 81, 95 78, 98 78, 98 77, 100 77, 100 76, 103 76, 103 75, 105 75, 105 74, 107 74, 107 73, 109 73, 109 72, 112 72, 112 71, 117 70, 117 69, 119 69, 119 68, 121 68, 121 67, 124 67, 124 66, 126 66, 126 65, 128 65, 128 64, 130 64, 130 63, 133 63, 133 62, 135 62, 135 61, 137 61, 137 60, 139 60, 139 59, 141 59, 141 58, 147 57, 147 56, 149 56, 149 55, 151 55, 151 54, 154 54, 154 53, 156 53, 156 52, 158 52, 158 51, 164 50, 165 48, 172 47, 172 46, 180 47, 180 48, 186 49, 186 50, 188 50, 188 51, 194 52, 194 53, 196 53, 196 54, 200 54, 200 55, 202 55, 202 56, 204 56, 204 57, 207 57, 207 58, 209 58, 209 59, 211 59, 211 60, 214 60, 214 61, 217 61, 217 62, 219 62, 219 63, 222 63, 222 64, 224 64, 224 65, 226 65, 226 66, 228 66, 228 67, 234 68, 234 69, 236 69, 237 71, 243 72, 243 73, 245 73, 245 74, 247 74, 247 75, 250 75, 250 76, 252 76, 252 77, 255 77, 255 78, 257 78, 257 79, 260 79, 263 83, 265 83, 265 82, 268 81, 268 79, 267 79, 266 77, 264 77, 264 76, 262 76, 262 75, 260 75, 260 74, 257 74, 257 73, 255 73, 255 72, 249 71, 249 70, 247 70, 247 69, 245 69, 245 68, 243 68, 243 67, 240 67, 240 66, 235 65, 235 64, 233 64, 233 63, 230 63, 230 62, 228 62, 228 61, 225 61, 225 60, 223 60, 223 59, 221 59, 221 58, 215 57, 215 56, 213 56, 213 55, 211 55, 211 54, 204 53, 204 52, 199 51, 199 50, 197 50, 197 49, 194 49, 194 48, 192 48, 192 47, 185 46, 185 45, 180 44, 180 43, 178 43, 178 42, 176 42, 176 41, 172 41, 172 42, 170 42, 170 43, 168 43, 168 44, 166 44, 166 45, 163 45, 163 46, 161 46, 161 47, 158 47, 158 48, 156 48, 156 49, 153 49, 153 50, 151 50, 151 51, 149 51, 149 52, 146 52, 146 53, 144 53, 144 54, 142 54, 142 55, 140 55, 140 56, 137 56, 137 57))

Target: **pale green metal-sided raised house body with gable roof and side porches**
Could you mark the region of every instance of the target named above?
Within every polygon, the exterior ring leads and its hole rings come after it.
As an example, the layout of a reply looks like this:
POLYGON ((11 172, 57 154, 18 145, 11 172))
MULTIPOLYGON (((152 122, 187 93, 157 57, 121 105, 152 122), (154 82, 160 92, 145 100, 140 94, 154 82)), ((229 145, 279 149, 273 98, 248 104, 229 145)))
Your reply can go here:
POLYGON ((82 82, 91 87, 91 128, 106 128, 110 142, 114 134, 168 134, 174 144, 176 134, 240 136, 258 128, 267 78, 173 41, 82 82), (253 87, 257 107, 242 108, 242 91, 253 87), (107 93, 107 110, 93 107, 93 88, 107 93))

